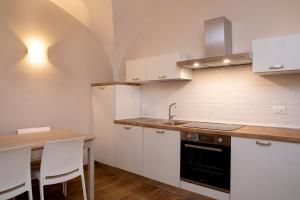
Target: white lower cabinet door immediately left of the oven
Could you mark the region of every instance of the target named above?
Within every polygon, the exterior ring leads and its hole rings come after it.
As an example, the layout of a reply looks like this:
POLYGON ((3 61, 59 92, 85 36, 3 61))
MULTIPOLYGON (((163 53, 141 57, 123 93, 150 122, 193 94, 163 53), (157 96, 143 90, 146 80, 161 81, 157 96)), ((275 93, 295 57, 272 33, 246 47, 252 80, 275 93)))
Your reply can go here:
POLYGON ((144 176, 179 187, 179 132, 144 128, 144 176))

